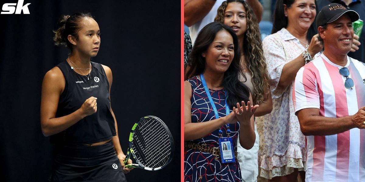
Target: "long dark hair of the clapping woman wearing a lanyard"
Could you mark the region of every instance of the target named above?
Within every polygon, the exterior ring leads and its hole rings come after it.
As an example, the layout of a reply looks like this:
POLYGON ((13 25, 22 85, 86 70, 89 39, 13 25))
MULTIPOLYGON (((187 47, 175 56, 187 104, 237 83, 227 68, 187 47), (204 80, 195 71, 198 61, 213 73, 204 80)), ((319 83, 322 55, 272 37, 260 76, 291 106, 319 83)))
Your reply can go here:
POLYGON ((234 57, 228 70, 224 72, 222 82, 223 87, 226 90, 226 97, 228 96, 227 103, 230 108, 232 108, 233 106, 236 106, 237 102, 241 103, 242 100, 247 102, 249 100, 250 91, 238 80, 240 75, 242 75, 245 80, 247 79, 240 64, 241 53, 239 50, 238 38, 230 27, 222 23, 212 22, 201 29, 191 51, 191 69, 187 72, 187 76, 188 78, 192 78, 193 76, 203 73, 205 69, 205 58, 201 54, 207 51, 219 31, 227 31, 233 38, 234 57))

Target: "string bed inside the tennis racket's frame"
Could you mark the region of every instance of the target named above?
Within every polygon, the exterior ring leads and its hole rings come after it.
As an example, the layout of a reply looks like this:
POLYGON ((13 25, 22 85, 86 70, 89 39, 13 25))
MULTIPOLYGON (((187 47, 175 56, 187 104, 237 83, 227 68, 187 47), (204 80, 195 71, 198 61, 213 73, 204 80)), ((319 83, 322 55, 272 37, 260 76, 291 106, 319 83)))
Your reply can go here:
POLYGON ((155 168, 168 162, 172 148, 169 135, 160 122, 142 120, 133 138, 135 157, 144 166, 155 168))

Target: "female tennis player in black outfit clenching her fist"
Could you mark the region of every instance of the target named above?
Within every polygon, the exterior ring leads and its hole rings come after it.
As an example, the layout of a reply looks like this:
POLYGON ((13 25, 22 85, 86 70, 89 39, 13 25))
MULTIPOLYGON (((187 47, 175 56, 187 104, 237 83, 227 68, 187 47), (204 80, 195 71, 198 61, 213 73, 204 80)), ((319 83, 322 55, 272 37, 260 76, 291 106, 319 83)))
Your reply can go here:
POLYGON ((99 25, 89 13, 62 16, 58 25, 55 44, 71 53, 42 83, 42 132, 56 146, 50 181, 125 182, 130 169, 110 106, 112 72, 90 61, 100 48, 99 25))

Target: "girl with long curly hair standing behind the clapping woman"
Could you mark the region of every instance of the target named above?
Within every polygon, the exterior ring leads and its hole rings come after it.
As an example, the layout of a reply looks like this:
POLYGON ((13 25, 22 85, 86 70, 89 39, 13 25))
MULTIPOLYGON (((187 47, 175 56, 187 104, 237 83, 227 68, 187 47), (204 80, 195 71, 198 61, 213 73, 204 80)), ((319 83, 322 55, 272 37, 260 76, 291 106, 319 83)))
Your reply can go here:
MULTIPOLYGON (((215 21, 230 26, 238 36, 241 49, 241 65, 245 68, 247 81, 245 85, 250 88, 253 104, 260 107, 255 111, 255 116, 268 114, 272 110, 269 77, 266 62, 262 51, 262 42, 257 18, 251 7, 243 0, 227 0, 220 5, 215 21)), ((238 146, 238 161, 241 166, 243 181, 256 181, 258 175, 258 147, 259 135, 255 126, 255 145, 250 150, 238 146)))

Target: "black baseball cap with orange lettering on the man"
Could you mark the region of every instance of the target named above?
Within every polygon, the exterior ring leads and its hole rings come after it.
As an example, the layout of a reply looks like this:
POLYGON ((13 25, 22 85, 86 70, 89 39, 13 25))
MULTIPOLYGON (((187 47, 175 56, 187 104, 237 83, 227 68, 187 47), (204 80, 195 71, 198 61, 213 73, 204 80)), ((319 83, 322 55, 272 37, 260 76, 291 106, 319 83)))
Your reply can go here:
POLYGON ((317 15, 316 24, 317 27, 322 27, 327 23, 336 21, 342 15, 349 15, 351 22, 354 22, 360 18, 356 11, 348 10, 343 5, 337 3, 331 3, 325 5, 317 15))

